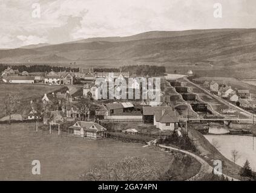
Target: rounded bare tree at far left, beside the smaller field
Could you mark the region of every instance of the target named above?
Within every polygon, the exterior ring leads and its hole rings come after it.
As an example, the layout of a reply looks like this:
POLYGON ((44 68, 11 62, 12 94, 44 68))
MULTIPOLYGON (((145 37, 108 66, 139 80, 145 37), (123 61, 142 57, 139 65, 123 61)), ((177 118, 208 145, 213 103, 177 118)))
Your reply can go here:
POLYGON ((9 116, 9 124, 11 124, 11 115, 18 111, 19 97, 10 93, 5 95, 4 98, 4 111, 5 115, 9 116))

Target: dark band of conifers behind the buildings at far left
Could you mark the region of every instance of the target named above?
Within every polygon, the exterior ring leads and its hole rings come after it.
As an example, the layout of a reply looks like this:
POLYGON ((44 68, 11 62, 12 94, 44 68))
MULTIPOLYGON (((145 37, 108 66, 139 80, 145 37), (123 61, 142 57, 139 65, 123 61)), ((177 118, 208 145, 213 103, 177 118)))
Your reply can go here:
MULTIPOLYGON (((0 64, 0 72, 4 71, 8 68, 8 65, 0 64)), ((50 66, 50 65, 31 65, 31 66, 25 66, 25 65, 11 65, 12 69, 18 69, 19 72, 27 71, 27 72, 50 72, 51 69, 55 72, 59 71, 74 71, 78 72, 79 68, 69 68, 64 66, 50 66)))

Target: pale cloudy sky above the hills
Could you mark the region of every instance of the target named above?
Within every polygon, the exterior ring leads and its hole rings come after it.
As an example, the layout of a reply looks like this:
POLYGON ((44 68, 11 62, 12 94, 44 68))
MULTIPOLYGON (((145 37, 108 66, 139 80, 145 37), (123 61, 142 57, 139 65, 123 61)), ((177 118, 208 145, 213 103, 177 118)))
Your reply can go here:
POLYGON ((146 31, 255 28, 255 6, 255 0, 0 0, 0 48, 146 31), (214 17, 217 3, 222 17, 214 17))

